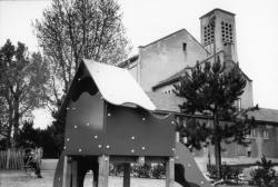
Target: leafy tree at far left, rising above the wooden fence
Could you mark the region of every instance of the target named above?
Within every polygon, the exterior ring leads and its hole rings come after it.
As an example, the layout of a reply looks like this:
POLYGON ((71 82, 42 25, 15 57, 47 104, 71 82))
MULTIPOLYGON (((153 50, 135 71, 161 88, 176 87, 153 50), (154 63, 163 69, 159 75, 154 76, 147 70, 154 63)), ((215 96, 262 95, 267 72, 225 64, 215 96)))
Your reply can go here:
POLYGON ((10 147, 11 135, 13 146, 17 142, 20 120, 43 105, 48 69, 39 52, 30 57, 24 43, 16 47, 9 39, 0 49, 0 68, 1 131, 10 147))

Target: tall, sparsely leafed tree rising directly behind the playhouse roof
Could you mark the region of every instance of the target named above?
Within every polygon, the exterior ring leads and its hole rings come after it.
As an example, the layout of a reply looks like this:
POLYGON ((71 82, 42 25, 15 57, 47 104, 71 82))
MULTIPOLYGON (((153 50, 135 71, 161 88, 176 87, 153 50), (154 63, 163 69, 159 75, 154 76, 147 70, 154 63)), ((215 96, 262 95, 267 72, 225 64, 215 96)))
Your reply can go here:
POLYGON ((117 63, 127 58, 128 40, 115 0, 52 0, 34 28, 52 75, 52 107, 69 90, 82 58, 117 63))

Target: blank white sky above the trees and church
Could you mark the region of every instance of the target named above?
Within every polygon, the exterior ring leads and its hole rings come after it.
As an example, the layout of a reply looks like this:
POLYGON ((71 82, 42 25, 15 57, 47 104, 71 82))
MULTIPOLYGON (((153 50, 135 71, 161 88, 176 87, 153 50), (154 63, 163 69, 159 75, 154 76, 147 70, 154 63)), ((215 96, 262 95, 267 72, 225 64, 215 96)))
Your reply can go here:
MULTIPOLYGON (((239 65, 252 79, 254 102, 278 109, 278 1, 277 0, 118 0, 127 37, 145 46, 180 29, 200 41, 199 18, 215 8, 236 13, 239 65)), ((42 17, 50 0, 0 0, 0 46, 10 38, 39 50, 32 22, 42 17)), ((36 111, 34 125, 46 127, 50 117, 36 111)))

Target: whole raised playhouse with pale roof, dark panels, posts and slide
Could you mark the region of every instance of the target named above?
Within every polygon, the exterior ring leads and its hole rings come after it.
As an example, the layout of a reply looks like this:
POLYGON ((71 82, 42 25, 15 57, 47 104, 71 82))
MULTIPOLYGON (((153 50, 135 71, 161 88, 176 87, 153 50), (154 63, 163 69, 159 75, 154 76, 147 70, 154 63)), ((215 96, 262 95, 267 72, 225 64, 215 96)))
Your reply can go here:
POLYGON ((125 164, 123 187, 130 186, 131 163, 166 164, 166 187, 210 187, 190 151, 176 142, 172 114, 156 106, 126 69, 83 60, 60 115, 66 118, 64 150, 53 187, 82 187, 87 171, 93 186, 108 187, 109 164, 125 164))

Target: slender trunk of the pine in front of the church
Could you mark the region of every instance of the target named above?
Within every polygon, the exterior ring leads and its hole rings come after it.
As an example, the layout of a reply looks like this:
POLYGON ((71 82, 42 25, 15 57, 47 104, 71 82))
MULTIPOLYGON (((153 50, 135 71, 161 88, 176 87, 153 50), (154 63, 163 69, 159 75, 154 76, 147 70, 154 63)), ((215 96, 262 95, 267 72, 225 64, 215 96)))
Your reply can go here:
POLYGON ((217 169, 217 179, 221 179, 221 139, 219 138, 218 115, 214 114, 214 136, 215 136, 215 159, 217 169))

